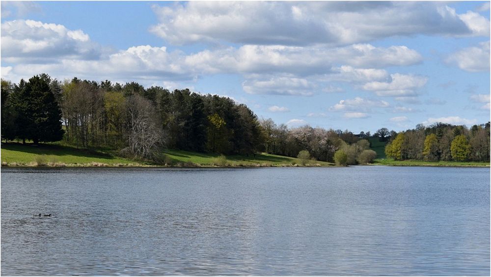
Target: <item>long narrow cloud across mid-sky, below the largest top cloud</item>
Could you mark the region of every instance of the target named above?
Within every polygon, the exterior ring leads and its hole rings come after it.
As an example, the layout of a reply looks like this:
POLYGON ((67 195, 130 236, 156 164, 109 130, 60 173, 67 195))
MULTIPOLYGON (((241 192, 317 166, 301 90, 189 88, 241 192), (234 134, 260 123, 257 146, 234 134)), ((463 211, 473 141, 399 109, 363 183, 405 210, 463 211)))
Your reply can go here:
MULTIPOLYGON (((331 73, 331 67, 337 64, 348 67, 339 69, 334 67, 334 73, 348 74, 345 71, 355 71, 352 66, 379 68, 411 65, 419 63, 422 57, 406 46, 383 48, 366 44, 328 48, 325 46, 243 45, 239 48, 204 50, 186 56, 185 60, 188 65, 210 73, 288 72, 305 76, 331 73)), ((352 74, 383 74, 377 72, 376 69, 365 71, 367 72, 352 72, 352 74)))

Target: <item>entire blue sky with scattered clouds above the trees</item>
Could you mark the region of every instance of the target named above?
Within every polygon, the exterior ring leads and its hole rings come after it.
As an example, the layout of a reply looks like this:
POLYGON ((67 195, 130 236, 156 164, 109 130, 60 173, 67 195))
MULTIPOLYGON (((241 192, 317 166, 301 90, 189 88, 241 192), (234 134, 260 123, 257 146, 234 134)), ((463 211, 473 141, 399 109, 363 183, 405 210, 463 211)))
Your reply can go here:
POLYGON ((1 78, 190 88, 354 133, 490 120, 490 2, 1 1, 1 78))

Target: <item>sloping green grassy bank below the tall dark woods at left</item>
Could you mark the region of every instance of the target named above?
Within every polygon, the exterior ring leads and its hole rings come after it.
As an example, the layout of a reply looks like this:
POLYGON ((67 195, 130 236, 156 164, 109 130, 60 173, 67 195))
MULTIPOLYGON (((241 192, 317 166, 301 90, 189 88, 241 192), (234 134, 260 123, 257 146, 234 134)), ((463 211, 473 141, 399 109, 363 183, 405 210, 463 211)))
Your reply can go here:
POLYGON ((240 166, 333 166, 318 161, 272 154, 222 156, 181 150, 165 150, 160 164, 117 157, 110 151, 84 150, 68 146, 8 143, 1 145, 2 166, 168 166, 168 167, 240 167, 240 166))

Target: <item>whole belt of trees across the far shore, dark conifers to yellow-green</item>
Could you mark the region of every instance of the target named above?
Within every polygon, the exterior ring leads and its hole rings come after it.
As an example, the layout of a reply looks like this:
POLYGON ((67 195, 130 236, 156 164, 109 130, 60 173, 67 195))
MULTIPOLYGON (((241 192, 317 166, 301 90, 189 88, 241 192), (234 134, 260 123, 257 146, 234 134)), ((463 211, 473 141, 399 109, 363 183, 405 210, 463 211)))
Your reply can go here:
POLYGON ((396 133, 381 128, 353 134, 308 125, 288 128, 258 118, 227 97, 189 89, 169 91, 139 83, 58 81, 40 74, 28 81, 1 80, 1 139, 58 141, 79 148, 110 148, 122 157, 162 161, 162 149, 218 154, 258 152, 301 159, 367 164, 377 154, 369 138, 388 141, 395 160, 490 160, 490 123, 437 123, 396 133))

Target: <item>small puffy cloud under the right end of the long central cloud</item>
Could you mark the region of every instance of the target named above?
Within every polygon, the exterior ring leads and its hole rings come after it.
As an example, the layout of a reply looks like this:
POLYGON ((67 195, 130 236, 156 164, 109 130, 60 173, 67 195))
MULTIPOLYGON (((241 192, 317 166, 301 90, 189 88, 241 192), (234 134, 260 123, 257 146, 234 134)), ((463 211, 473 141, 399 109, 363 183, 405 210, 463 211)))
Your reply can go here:
POLYGON ((415 75, 391 74, 389 82, 370 82, 363 89, 375 91, 379 96, 412 96, 415 90, 423 87, 428 78, 415 75))

